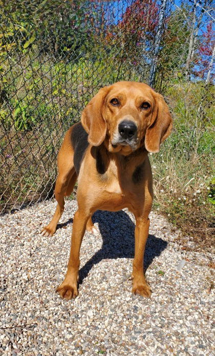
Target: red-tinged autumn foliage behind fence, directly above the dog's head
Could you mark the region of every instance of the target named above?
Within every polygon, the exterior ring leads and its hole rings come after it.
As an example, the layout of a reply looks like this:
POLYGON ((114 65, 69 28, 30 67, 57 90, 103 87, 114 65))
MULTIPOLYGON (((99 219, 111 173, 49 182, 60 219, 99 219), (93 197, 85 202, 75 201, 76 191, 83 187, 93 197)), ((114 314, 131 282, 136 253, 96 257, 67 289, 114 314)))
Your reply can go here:
POLYGON ((107 28, 107 44, 119 48, 117 61, 135 67, 146 75, 158 25, 158 6, 154 0, 136 0, 126 8, 118 23, 107 28), (145 68, 144 68, 145 66, 145 68))

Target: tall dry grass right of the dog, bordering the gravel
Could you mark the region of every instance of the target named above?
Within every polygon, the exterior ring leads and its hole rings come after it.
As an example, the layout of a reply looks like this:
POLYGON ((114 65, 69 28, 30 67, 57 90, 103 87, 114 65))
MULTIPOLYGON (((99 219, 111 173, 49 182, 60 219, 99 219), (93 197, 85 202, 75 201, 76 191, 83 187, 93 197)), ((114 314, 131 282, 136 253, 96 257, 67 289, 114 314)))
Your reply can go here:
POLYGON ((199 244, 214 243, 214 87, 166 86, 174 130, 151 157, 155 203, 169 221, 199 244))

